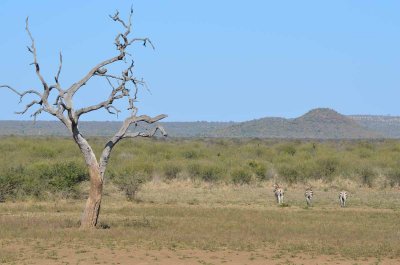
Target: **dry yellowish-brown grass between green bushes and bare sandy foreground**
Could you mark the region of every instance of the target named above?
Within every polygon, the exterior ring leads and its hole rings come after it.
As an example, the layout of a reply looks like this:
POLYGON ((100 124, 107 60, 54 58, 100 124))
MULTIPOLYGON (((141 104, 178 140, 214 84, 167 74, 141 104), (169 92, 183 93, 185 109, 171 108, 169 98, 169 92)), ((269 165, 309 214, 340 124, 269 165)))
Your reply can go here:
POLYGON ((83 232, 78 221, 83 201, 0 204, 0 263, 20 264, 31 253, 62 260, 60 249, 128 251, 273 251, 287 255, 339 255, 350 259, 400 258, 400 192, 350 190, 341 209, 337 190, 315 190, 306 208, 302 187, 286 190, 289 207, 277 207, 270 183, 255 186, 193 182, 150 182, 138 201, 106 190, 100 225, 83 232), (379 197, 377 195, 384 196, 379 197), (14 246, 14 247, 10 247, 14 246))

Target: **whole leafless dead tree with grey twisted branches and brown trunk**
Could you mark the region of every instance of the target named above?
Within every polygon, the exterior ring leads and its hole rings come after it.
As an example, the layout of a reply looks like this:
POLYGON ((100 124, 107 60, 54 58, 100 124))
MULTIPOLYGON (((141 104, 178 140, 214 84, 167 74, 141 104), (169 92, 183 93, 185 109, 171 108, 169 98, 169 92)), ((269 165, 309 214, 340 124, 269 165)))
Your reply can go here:
POLYGON ((144 46, 149 45, 153 49, 154 46, 148 38, 130 37, 132 28, 132 14, 133 10, 131 8, 128 20, 121 19, 118 11, 116 11, 113 16, 110 16, 114 22, 119 23, 123 28, 123 31, 118 33, 114 39, 114 44, 117 49, 116 56, 98 63, 88 73, 86 73, 82 79, 78 80, 76 83, 72 84, 66 89, 64 89, 59 82, 63 62, 61 52, 59 57, 59 67, 54 77, 54 83, 49 84, 43 78, 37 59, 35 40, 29 30, 27 18, 26 32, 31 40, 31 45, 28 46, 28 51, 33 56, 32 65, 35 67, 36 75, 41 82, 43 90, 30 89, 24 92, 19 92, 9 85, 0 86, 0 88, 7 88, 16 93, 20 97, 20 102, 26 95, 32 95, 36 97, 36 99, 27 104, 22 111, 16 113, 25 114, 28 110, 37 107, 35 110, 33 110, 31 115, 34 120, 36 120, 36 117, 42 112, 47 112, 50 115, 57 117, 71 133, 72 138, 82 152, 90 177, 90 191, 82 214, 81 228, 92 228, 97 224, 102 199, 104 174, 106 172, 111 151, 115 145, 125 138, 152 137, 157 133, 157 131, 161 132, 163 136, 166 136, 166 132, 161 126, 154 126, 154 128, 144 131, 128 131, 131 125, 136 127, 138 123, 153 124, 167 117, 164 114, 156 117, 137 115, 138 109, 135 106, 135 103, 137 101, 138 88, 139 86, 145 86, 145 83, 142 79, 139 80, 133 75, 133 61, 132 63, 126 63, 128 59, 127 57, 130 56, 130 54, 127 52, 127 49, 134 43, 141 43, 144 46), (112 74, 107 71, 107 66, 121 61, 125 62, 126 65, 126 68, 122 70, 121 74, 112 74), (107 81, 111 90, 108 98, 92 106, 80 109, 74 108, 75 94, 94 77, 104 78, 104 80, 107 81), (49 102, 51 95, 54 95, 53 98, 56 97, 55 102, 49 102), (92 147, 79 130, 79 119, 86 113, 100 109, 105 109, 110 114, 118 114, 120 110, 117 109, 113 103, 122 99, 126 100, 128 106, 127 109, 130 112, 130 115, 125 119, 119 131, 105 144, 100 158, 97 159, 92 147))

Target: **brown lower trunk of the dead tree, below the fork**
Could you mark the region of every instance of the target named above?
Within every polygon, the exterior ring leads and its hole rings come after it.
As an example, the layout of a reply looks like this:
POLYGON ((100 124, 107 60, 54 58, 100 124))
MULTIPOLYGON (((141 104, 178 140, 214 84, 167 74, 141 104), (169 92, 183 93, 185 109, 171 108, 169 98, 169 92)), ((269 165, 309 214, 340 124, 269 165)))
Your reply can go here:
POLYGON ((81 228, 94 228, 100 213, 100 204, 103 194, 103 178, 101 177, 99 166, 89 165, 90 190, 86 201, 85 210, 82 214, 81 228))

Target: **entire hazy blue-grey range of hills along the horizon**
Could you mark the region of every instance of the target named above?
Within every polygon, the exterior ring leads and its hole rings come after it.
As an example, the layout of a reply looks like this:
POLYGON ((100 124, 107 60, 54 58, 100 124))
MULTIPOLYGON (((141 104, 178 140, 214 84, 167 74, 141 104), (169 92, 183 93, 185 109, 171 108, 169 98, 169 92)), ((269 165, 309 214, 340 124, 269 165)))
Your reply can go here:
MULTIPOLYGON (((261 118, 245 122, 163 122, 170 137, 257 137, 293 139, 400 138, 400 117, 351 115, 314 109, 294 119, 261 118)), ((87 136, 112 136, 121 122, 81 122, 87 136)), ((142 126, 142 125, 139 125, 142 126)), ((133 129, 132 129, 133 130, 133 129)), ((0 135, 68 136, 56 121, 0 121, 0 135)))

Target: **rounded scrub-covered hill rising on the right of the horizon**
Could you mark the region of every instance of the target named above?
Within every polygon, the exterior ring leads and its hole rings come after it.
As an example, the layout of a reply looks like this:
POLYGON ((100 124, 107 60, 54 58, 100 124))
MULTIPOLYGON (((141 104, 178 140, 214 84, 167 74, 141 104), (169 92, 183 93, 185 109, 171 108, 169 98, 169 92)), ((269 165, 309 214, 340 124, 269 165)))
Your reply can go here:
POLYGON ((263 118, 218 129, 220 137, 271 137, 295 139, 383 138, 332 109, 314 109, 295 119, 263 118))

